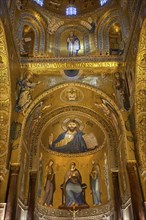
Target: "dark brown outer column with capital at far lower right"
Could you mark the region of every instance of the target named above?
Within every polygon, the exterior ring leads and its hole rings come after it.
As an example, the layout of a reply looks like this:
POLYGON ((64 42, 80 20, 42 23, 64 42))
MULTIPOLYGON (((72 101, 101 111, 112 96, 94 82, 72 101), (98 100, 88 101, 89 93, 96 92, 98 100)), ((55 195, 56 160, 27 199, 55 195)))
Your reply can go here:
POLYGON ((145 220, 144 201, 136 162, 128 162, 127 171, 129 176, 134 219, 145 220))

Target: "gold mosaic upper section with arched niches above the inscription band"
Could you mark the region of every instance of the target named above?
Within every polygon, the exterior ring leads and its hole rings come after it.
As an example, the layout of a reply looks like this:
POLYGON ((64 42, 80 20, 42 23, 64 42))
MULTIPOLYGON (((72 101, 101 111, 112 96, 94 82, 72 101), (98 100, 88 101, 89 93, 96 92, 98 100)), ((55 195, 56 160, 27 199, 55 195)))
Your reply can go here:
POLYGON ((16 1, 16 4, 10 4, 16 13, 16 20, 12 19, 15 27, 13 32, 22 63, 26 64, 29 58, 34 60, 37 57, 43 58, 43 61, 45 58, 61 57, 72 57, 79 61, 81 56, 85 56, 84 60, 92 61, 92 57, 100 61, 106 56, 110 60, 123 59, 130 38, 129 18, 133 16, 128 3, 123 5, 121 1, 109 0, 102 1, 102 7, 98 7, 98 1, 90 1, 90 4, 89 1, 70 1, 70 7, 76 7, 77 14, 61 16, 62 8, 66 10, 68 7, 67 1, 56 3, 60 5, 59 9, 53 1, 44 1, 42 5, 40 2, 16 1), (52 13, 50 4, 59 12, 52 13), (87 11, 84 12, 87 4, 87 11), (97 11, 92 12, 90 7, 97 8, 97 11))

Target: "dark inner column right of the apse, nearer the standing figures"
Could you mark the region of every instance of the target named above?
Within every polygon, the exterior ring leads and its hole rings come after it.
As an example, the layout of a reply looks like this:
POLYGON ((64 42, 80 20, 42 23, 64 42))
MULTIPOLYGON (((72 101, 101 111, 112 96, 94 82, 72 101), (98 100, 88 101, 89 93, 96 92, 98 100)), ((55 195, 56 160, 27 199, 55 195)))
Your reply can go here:
POLYGON ((118 172, 112 173, 112 180, 113 180, 113 190, 114 190, 115 220, 121 220, 122 219, 122 213, 121 213, 122 204, 121 204, 118 172))

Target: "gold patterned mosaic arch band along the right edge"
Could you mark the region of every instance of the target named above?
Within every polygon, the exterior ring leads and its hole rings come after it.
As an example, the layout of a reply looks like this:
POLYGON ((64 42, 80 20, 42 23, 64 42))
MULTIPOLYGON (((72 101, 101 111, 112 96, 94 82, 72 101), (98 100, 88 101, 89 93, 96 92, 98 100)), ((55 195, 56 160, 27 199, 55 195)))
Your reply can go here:
POLYGON ((143 21, 136 61, 136 132, 139 164, 146 167, 145 131, 146 131, 146 18, 143 21))

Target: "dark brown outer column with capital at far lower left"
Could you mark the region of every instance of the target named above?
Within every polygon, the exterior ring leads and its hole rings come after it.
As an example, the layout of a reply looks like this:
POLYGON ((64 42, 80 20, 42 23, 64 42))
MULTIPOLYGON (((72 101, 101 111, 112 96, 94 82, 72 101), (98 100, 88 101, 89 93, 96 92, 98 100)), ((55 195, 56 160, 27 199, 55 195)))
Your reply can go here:
POLYGON ((16 217, 19 165, 10 165, 5 220, 16 217))

